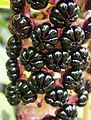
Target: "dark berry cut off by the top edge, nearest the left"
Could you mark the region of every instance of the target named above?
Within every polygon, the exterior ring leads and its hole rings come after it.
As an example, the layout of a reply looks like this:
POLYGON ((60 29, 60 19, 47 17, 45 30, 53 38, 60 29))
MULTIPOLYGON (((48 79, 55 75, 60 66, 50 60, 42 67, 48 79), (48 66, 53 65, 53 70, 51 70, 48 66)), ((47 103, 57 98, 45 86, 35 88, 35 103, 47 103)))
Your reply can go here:
POLYGON ((25 5, 25 0, 10 0, 10 8, 16 14, 23 12, 25 5))

